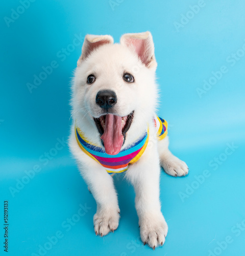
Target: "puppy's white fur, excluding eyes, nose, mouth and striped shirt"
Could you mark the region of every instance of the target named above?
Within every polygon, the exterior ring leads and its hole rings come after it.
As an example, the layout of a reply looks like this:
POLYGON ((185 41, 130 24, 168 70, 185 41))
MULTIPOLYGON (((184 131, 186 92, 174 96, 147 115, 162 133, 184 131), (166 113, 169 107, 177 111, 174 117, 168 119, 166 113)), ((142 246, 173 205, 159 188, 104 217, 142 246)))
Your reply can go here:
POLYGON ((94 231, 104 236, 110 230, 114 231, 119 222, 120 210, 113 178, 102 165, 80 149, 74 133, 75 120, 89 141, 102 146, 93 120, 93 117, 102 115, 101 108, 95 104, 95 96, 99 90, 110 89, 117 95, 117 103, 113 107, 115 114, 126 116, 134 111, 133 122, 122 149, 143 134, 149 125, 149 144, 141 158, 129 166, 126 178, 133 184, 136 193, 135 206, 141 239, 154 249, 165 242, 167 234, 167 224, 159 201, 160 163, 169 175, 183 176, 188 173, 187 165, 169 152, 168 138, 161 141, 156 138, 152 121, 158 97, 156 67, 150 32, 123 35, 120 44, 113 44, 113 38, 108 35, 87 35, 72 84, 74 122, 69 138, 70 150, 97 203, 94 231), (142 48, 137 48, 139 42, 142 43, 143 52, 142 48), (134 83, 122 79, 125 72, 134 76, 134 83), (96 77, 91 85, 86 83, 90 74, 96 77))

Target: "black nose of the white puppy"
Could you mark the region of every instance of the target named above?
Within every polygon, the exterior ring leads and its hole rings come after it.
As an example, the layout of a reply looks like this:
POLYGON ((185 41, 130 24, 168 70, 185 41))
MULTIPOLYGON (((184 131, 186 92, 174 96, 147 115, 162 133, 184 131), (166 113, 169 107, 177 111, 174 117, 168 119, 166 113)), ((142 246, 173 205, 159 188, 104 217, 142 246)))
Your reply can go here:
POLYGON ((116 94, 110 90, 103 90, 97 93, 95 102, 102 109, 108 110, 116 104, 116 94))

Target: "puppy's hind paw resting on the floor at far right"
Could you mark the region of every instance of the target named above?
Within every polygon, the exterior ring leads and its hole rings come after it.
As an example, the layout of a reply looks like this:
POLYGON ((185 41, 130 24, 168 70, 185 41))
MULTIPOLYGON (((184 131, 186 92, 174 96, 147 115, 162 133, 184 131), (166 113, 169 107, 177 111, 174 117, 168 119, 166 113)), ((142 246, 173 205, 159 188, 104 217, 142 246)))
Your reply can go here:
POLYGON ((162 157, 161 166, 163 167, 165 173, 175 177, 185 176, 188 174, 189 171, 186 163, 173 155, 168 157, 162 157))

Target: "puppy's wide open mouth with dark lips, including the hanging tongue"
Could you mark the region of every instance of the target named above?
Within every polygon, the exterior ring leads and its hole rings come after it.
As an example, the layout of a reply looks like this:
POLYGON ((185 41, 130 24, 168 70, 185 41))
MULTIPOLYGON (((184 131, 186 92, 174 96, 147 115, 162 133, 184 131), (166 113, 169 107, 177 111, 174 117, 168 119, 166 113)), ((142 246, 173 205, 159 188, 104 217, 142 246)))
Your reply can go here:
POLYGON ((99 118, 94 118, 94 122, 108 155, 116 155, 120 152, 133 117, 134 111, 128 116, 123 117, 106 114, 99 118))

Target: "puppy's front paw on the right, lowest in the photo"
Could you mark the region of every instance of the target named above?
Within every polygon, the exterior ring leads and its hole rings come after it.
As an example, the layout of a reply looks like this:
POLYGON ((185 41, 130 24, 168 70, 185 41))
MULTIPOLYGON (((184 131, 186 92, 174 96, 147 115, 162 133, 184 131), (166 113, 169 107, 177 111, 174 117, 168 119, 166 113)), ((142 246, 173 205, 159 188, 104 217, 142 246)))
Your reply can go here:
POLYGON ((159 215, 148 215, 141 218, 140 237, 142 242, 148 244, 155 250, 158 245, 163 245, 167 236, 167 223, 160 213, 159 215))

